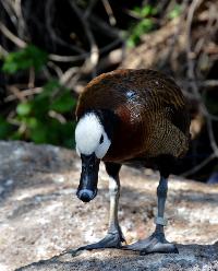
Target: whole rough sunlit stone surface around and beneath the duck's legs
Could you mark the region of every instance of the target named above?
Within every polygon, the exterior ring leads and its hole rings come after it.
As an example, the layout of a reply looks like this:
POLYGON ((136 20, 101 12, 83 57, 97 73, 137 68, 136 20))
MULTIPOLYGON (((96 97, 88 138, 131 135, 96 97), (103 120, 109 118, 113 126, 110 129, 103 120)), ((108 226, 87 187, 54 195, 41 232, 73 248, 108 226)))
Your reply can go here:
MULTIPOLYGON (((106 249, 58 256, 107 231, 105 169, 97 198, 84 204, 75 197, 80 167, 64 149, 0 142, 0 271, 218 270, 218 185, 178 177, 169 182, 166 235, 179 255, 106 249)), ((153 232, 157 184, 152 170, 122 168, 119 217, 128 243, 153 232)))

